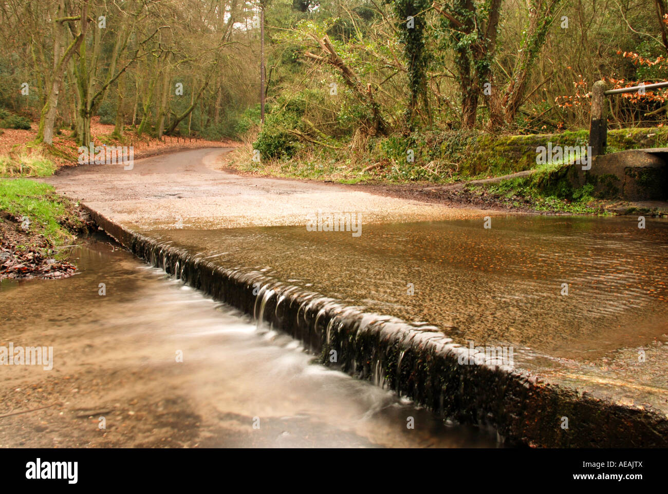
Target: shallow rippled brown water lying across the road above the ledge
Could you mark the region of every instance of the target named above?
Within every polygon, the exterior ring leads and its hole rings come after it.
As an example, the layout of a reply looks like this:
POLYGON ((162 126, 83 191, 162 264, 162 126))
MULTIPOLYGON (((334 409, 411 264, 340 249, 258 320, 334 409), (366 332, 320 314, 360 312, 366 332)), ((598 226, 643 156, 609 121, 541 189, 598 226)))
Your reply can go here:
POLYGON ((591 360, 668 334, 668 222, 507 216, 364 225, 150 232, 227 267, 430 322, 456 341, 591 360), (204 254, 205 253, 205 254, 204 254), (562 284, 568 284, 568 295, 562 284), (409 284, 414 294, 409 295, 409 284))

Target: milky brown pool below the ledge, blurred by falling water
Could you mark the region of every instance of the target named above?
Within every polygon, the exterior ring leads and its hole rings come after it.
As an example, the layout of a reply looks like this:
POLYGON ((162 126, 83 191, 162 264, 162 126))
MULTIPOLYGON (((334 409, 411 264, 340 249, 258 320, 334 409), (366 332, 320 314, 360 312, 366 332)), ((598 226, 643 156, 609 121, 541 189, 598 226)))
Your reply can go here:
POLYGON ((110 244, 73 258, 71 278, 0 283, 0 344, 54 354, 52 371, 0 367, 0 415, 32 410, 0 419, 0 447, 498 445, 491 431, 312 364, 295 340, 110 244))

